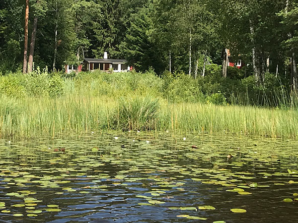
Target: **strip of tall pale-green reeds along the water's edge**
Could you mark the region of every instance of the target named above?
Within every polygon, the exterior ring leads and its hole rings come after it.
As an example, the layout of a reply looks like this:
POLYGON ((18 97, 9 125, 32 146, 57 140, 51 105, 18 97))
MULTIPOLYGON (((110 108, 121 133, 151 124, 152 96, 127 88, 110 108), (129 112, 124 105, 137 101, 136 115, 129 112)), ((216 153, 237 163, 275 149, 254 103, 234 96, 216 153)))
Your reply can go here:
POLYGON ((58 99, 0 97, 0 137, 90 134, 109 130, 171 130, 298 137, 298 111, 202 103, 169 104, 150 97, 72 95, 58 99))

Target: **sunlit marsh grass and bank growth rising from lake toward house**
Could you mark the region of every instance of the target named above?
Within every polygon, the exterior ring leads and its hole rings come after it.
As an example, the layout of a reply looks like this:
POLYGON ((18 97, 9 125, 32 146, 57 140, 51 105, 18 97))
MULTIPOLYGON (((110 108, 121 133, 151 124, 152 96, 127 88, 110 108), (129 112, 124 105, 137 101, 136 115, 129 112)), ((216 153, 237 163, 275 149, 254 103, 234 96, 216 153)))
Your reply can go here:
POLYGON ((176 86, 152 73, 81 73, 73 79, 47 75, 38 78, 49 83, 40 83, 33 90, 26 77, 22 76, 21 81, 15 76, 0 78, 0 83, 7 83, 1 88, 5 91, 0 92, 0 138, 111 130, 298 138, 297 96, 286 90, 267 98, 262 95, 266 108, 261 108, 259 104, 251 105, 248 91, 231 93, 229 104, 206 104, 193 83, 189 88, 184 86, 188 89, 184 97, 184 91, 177 89, 183 81, 172 82, 176 86), (22 94, 15 93, 19 89, 22 94), (269 106, 272 101, 276 106, 269 106))

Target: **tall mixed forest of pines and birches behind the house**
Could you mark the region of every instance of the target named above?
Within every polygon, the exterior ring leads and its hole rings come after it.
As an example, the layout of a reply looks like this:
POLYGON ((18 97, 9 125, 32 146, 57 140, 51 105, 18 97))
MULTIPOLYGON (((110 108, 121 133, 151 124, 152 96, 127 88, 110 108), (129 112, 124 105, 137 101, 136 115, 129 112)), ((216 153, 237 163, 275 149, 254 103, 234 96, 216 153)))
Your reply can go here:
POLYGON ((197 78, 221 66, 259 86, 273 73, 296 91, 297 21, 297 0, 4 0, 0 73, 58 71, 108 52, 141 72, 197 78), (228 57, 245 64, 240 75, 228 57))

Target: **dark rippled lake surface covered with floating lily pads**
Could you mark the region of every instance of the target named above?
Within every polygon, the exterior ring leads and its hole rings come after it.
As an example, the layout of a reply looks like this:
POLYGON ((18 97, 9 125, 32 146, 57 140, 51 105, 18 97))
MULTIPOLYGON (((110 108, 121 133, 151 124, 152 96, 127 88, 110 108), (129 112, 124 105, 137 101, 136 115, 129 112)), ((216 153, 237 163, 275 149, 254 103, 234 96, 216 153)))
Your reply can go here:
POLYGON ((297 157, 225 135, 0 140, 0 222, 297 223, 297 157))

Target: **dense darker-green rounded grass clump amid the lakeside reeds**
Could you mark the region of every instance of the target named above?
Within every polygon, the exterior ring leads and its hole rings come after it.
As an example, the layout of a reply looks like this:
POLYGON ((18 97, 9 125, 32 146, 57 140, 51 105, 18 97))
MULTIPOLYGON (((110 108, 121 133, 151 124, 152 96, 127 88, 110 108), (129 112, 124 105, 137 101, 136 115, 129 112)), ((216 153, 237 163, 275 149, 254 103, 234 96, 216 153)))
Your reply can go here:
POLYGON ((154 130, 158 109, 159 103, 156 98, 122 97, 112 116, 114 127, 123 130, 154 130))

